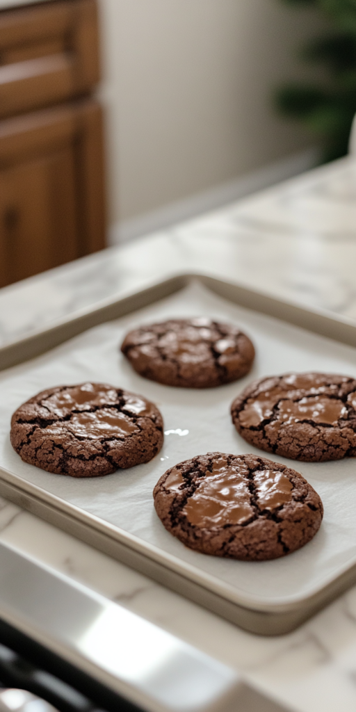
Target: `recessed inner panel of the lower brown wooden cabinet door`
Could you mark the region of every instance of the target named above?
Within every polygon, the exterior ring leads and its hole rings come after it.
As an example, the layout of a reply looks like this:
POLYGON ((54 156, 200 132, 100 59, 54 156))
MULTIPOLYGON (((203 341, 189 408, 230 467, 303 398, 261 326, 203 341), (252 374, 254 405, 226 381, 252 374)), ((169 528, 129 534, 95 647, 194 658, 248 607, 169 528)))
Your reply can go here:
POLYGON ((0 173, 1 283, 75 259, 73 151, 19 164, 0 173))

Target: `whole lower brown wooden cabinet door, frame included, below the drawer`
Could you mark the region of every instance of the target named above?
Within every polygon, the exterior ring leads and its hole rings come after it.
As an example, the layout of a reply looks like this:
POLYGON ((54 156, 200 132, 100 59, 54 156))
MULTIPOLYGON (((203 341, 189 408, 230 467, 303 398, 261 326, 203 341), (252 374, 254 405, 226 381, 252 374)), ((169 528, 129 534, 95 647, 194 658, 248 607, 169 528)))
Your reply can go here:
POLYGON ((0 122, 0 286, 105 246, 101 148, 91 100, 0 122))

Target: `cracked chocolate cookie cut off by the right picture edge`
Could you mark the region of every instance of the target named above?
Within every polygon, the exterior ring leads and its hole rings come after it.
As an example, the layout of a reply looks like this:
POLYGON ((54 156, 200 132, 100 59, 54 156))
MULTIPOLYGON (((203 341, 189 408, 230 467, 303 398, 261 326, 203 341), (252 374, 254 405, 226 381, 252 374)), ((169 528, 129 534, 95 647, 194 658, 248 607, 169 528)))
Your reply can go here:
POLYGON ((356 456, 356 379, 289 373, 250 384, 232 406, 236 430, 252 445, 293 460, 356 456))

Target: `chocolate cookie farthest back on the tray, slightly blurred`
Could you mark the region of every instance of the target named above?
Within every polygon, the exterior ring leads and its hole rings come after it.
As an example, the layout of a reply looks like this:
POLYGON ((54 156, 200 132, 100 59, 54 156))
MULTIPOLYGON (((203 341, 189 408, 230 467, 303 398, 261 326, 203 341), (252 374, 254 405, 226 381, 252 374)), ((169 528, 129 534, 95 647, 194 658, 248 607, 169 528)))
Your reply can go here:
POLYGON ((255 350, 236 326, 211 319, 171 319, 130 331, 121 347, 137 373, 184 388, 236 381, 251 369, 255 350))

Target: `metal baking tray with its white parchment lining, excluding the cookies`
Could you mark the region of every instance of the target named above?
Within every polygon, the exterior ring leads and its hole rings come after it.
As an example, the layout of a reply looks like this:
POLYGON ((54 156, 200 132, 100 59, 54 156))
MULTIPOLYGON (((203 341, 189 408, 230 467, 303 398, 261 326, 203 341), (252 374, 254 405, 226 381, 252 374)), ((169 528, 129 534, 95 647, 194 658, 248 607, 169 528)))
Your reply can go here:
POLYGON ((0 368, 7 369, 0 374, 0 494, 251 632, 289 632, 356 581, 355 460, 310 464, 273 456, 310 481, 323 499, 325 518, 311 543, 269 562, 185 548, 155 515, 152 489, 169 466, 196 454, 261 454, 231 424, 229 404, 236 394, 254 377, 283 371, 356 375, 355 347, 356 328, 347 318, 207 275, 174 276, 70 315, 0 350, 0 368), (248 377, 204 391, 170 388, 142 379, 119 354, 132 325, 193 314, 224 318, 251 335, 257 358, 248 377), (167 434, 151 463, 77 480, 24 464, 12 451, 9 418, 15 407, 42 388, 86 379, 112 382, 158 404, 167 434))

